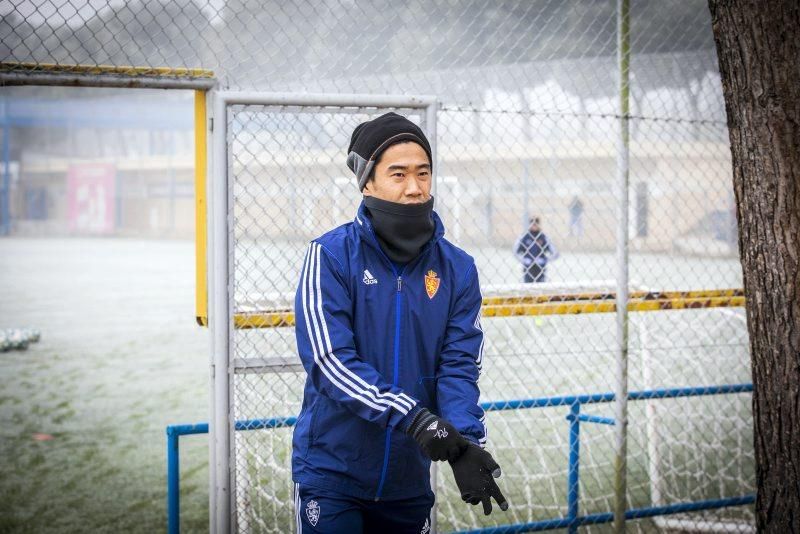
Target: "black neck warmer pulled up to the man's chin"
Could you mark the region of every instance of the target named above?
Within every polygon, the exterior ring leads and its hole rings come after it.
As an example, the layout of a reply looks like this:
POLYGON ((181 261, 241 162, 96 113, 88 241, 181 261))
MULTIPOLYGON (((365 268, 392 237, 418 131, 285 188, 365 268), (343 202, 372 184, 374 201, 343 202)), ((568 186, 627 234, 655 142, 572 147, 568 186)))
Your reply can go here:
POLYGON ((381 248, 395 263, 408 263, 433 237, 433 197, 422 204, 398 204, 364 197, 381 248))

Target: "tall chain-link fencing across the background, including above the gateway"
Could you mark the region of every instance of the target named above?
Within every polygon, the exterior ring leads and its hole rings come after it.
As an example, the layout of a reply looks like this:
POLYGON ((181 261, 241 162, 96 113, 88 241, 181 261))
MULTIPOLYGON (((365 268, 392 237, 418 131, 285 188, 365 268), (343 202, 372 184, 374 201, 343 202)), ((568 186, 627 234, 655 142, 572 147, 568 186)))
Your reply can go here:
MULTIPOLYGON (((444 467, 438 528, 530 526, 614 507, 613 403, 591 396, 617 387, 608 313, 620 198, 615 9, 557 0, 11 0, 0 7, 0 57, 15 76, 51 64, 132 77, 205 68, 222 89, 435 95, 436 210, 446 237, 475 257, 487 299, 481 400, 496 408, 487 447, 511 504, 483 517, 460 501, 444 467), (539 251, 544 280, 523 284, 518 241, 533 218, 551 247, 539 251), (576 403, 564 399, 582 395, 572 413, 576 403)), ((626 504, 735 498, 755 491, 755 465, 749 395, 715 389, 750 382, 750 371, 740 294, 722 291, 740 288, 742 276, 710 18, 695 0, 633 0, 630 17, 628 388, 693 396, 629 403, 626 504)), ((305 375, 290 314, 303 255, 310 239, 355 215, 345 149, 355 125, 383 111, 229 109, 233 311, 251 327, 231 338, 237 420, 299 411, 305 375), (277 327, 254 328, 264 311, 277 327)), ((398 112, 423 122, 418 111, 398 112)), ((286 531, 291 428, 236 432, 232 447, 238 530, 286 531)), ((627 523, 632 532, 752 525, 751 506, 627 523)))

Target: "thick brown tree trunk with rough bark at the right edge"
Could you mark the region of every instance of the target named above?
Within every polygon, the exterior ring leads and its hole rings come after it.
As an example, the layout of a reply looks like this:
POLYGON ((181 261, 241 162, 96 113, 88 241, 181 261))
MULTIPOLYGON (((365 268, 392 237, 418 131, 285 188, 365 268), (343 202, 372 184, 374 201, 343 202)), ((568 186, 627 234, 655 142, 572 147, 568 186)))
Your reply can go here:
POLYGON ((756 523, 800 533, 800 2, 709 7, 747 297, 756 523))

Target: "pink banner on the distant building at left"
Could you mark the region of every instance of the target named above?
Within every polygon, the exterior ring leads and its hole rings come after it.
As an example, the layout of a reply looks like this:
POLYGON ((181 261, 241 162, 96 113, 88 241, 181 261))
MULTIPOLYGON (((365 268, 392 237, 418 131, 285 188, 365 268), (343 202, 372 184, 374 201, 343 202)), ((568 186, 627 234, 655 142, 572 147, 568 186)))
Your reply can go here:
POLYGON ((67 172, 67 217, 74 232, 108 234, 114 231, 114 177, 110 163, 70 165, 67 172))

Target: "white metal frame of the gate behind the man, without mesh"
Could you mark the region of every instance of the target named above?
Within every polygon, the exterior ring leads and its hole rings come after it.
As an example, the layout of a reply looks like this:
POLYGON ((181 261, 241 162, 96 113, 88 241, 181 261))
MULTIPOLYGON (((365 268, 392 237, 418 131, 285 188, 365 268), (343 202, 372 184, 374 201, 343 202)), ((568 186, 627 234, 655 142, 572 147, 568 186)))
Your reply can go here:
MULTIPOLYGON (((423 111, 423 130, 431 142, 436 166, 436 112, 438 102, 431 96, 292 94, 212 91, 210 93, 210 177, 207 198, 208 217, 208 298, 211 330, 211 405, 210 405, 210 530, 227 533, 236 528, 235 465, 232 447, 234 434, 233 389, 237 362, 231 355, 234 329, 233 293, 229 285, 233 270, 233 225, 230 209, 233 188, 229 182, 228 108, 234 105, 299 106, 331 108, 405 108, 423 111)), ((435 184, 435 182, 434 182, 435 184)), ((435 187, 435 185, 434 185, 435 187)), ((435 474, 432 474, 435 476, 435 474)))

